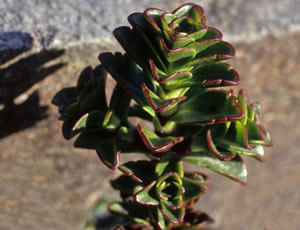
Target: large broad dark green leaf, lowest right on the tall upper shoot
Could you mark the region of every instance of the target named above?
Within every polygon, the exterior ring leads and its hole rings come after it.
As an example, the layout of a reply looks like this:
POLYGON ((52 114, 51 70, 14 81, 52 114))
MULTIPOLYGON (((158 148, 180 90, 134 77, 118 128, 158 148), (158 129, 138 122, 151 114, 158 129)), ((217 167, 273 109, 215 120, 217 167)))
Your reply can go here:
POLYGON ((209 90, 182 102, 170 121, 179 124, 214 124, 238 120, 242 115, 235 97, 226 91, 209 90))

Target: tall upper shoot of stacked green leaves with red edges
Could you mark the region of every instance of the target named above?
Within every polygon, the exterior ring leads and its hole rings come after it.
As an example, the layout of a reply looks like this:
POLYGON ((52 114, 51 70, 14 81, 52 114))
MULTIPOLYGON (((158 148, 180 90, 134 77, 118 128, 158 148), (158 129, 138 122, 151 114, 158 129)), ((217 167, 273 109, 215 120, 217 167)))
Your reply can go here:
POLYGON ((185 4, 172 13, 151 8, 128 20, 132 28, 114 30, 126 54, 102 53, 99 59, 137 108, 150 116, 156 132, 170 136, 177 124, 242 117, 229 92, 206 90, 237 85, 240 78, 220 62, 234 57, 234 48, 219 30, 206 25, 200 6, 185 4), (197 90, 191 93, 193 88, 197 90))

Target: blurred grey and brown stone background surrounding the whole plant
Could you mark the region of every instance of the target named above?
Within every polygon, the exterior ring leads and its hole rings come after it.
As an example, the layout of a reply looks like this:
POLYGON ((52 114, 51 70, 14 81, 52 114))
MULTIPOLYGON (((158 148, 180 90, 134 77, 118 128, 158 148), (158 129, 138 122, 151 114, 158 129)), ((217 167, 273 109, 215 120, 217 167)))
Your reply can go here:
MULTIPOLYGON (((180 0, 0 0, 0 229, 79 230, 112 172, 61 134, 55 93, 121 48, 111 35, 180 0)), ((246 159, 248 185, 209 173, 199 208, 216 230, 300 229, 300 0, 195 0, 236 48, 240 87, 260 101, 273 148, 246 159)))

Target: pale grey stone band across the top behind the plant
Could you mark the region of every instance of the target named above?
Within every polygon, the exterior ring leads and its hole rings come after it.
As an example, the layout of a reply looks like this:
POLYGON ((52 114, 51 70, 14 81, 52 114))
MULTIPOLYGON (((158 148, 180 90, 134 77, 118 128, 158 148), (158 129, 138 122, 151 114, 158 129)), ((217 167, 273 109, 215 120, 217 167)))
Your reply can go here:
MULTIPOLYGON (((187 0, 1 0, 0 32, 28 32, 35 47, 67 47, 82 42, 114 43, 111 31, 128 25, 127 16, 148 7, 173 10, 187 0), (130 7, 129 7, 130 6, 130 7)), ((259 39, 299 29, 299 0, 195 0, 208 23, 226 39, 259 39)))

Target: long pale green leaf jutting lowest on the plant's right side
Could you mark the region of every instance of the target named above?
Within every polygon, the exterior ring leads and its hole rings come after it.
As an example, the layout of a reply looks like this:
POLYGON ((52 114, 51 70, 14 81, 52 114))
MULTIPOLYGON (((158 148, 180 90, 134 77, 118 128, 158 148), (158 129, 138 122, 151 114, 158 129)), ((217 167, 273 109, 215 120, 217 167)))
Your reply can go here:
POLYGON ((206 153, 198 152, 191 153, 182 158, 183 161, 205 167, 222 174, 230 179, 238 181, 241 184, 247 182, 247 170, 240 156, 236 156, 230 161, 220 161, 215 156, 206 153))

